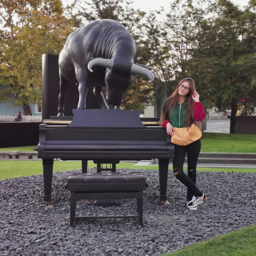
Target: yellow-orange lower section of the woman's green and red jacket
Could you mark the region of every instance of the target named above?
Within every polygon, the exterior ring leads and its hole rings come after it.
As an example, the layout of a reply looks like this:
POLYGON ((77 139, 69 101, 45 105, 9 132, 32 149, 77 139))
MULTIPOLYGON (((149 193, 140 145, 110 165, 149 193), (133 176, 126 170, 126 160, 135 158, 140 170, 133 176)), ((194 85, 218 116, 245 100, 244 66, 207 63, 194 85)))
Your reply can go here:
POLYGON ((174 129, 171 142, 176 145, 186 146, 202 137, 202 132, 195 124, 188 128, 174 127, 174 129))

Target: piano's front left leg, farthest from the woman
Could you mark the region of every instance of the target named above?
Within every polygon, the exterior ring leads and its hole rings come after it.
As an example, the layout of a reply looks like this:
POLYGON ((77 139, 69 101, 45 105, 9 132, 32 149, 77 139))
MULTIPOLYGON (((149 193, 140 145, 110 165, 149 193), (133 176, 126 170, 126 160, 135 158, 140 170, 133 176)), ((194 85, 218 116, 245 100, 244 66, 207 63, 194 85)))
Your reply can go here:
POLYGON ((51 200, 53 159, 42 159, 44 170, 44 204, 53 205, 51 200))

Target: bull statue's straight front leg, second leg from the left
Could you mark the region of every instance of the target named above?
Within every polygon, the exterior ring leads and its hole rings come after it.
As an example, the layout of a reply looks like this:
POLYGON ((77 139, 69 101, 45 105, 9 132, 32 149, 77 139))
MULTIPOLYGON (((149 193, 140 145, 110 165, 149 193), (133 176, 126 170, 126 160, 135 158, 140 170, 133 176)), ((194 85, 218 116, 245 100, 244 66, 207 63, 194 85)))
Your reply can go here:
POLYGON ((81 67, 75 67, 76 71, 76 79, 78 81, 78 92, 79 92, 79 102, 77 105, 77 109, 86 109, 85 100, 86 95, 89 90, 89 85, 86 84, 87 73, 81 67))

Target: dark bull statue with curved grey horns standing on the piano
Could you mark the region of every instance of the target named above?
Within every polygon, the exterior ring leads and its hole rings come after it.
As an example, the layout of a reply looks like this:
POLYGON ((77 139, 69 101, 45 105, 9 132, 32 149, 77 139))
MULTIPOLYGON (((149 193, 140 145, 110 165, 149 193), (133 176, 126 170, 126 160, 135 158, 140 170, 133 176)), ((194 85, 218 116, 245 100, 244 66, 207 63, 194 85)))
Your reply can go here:
POLYGON ((59 55, 60 94, 58 116, 64 116, 64 103, 70 82, 79 91, 77 109, 86 109, 89 87, 103 109, 108 109, 102 94, 106 87, 106 101, 121 109, 124 94, 133 74, 154 79, 150 67, 135 65, 137 48, 125 27, 110 19, 91 22, 71 33, 59 55))

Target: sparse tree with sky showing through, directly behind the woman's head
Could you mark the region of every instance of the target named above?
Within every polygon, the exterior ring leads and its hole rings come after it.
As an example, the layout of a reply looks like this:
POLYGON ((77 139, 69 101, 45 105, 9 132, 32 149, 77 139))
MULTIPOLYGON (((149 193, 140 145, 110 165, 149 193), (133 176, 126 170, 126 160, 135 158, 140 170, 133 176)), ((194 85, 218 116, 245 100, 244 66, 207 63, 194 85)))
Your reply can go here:
POLYGON ((159 95, 158 91, 170 95, 181 79, 192 76, 188 62, 199 44, 200 24, 207 15, 207 10, 202 8, 205 3, 200 0, 193 5, 189 0, 176 0, 166 14, 161 10, 148 15, 144 40, 147 50, 143 52, 154 67, 153 83, 157 88, 156 98, 161 102, 164 95, 159 95), (163 19, 157 19, 156 15, 162 15, 163 19))

